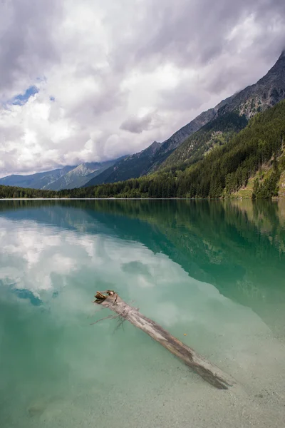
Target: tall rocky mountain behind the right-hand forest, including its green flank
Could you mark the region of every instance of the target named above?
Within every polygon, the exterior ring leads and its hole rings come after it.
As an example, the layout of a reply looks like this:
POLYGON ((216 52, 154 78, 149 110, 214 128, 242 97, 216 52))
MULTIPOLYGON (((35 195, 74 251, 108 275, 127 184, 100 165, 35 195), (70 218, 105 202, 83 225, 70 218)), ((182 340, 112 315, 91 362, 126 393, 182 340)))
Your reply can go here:
MULTIPOLYGON (((217 118, 227 113, 235 113, 244 118, 251 118, 254 114, 266 110, 271 106, 285 98, 285 51, 281 53, 278 61, 269 70, 269 72, 252 86, 235 93, 233 96, 226 98, 217 104, 214 108, 204 111, 193 121, 183 126, 179 131, 175 132, 168 140, 155 146, 155 151, 152 151, 152 145, 140 153, 125 158, 124 161, 115 163, 112 168, 105 170, 103 175, 98 175, 95 180, 90 180, 88 185, 115 183, 128 178, 138 178, 141 175, 152 173, 162 166, 172 166, 176 163, 181 163, 197 155, 202 156, 204 151, 214 146, 215 133, 223 133, 223 129, 217 129, 217 122, 207 128, 208 141, 204 140, 204 133, 197 135, 194 139, 191 137, 193 133, 197 133, 202 126, 211 123, 217 118), (199 140, 202 136, 202 141, 199 140), (173 153, 174 152, 174 153, 173 153), (173 153, 173 155, 172 155, 173 153), (171 156, 172 155, 172 156, 171 156), (161 165, 161 166, 160 166, 161 165)), ((230 117, 230 116, 227 116, 230 117)), ((224 126, 224 121, 221 122, 224 126)), ((245 125, 245 123, 244 123, 245 125)), ((227 126, 226 126, 227 128, 227 126)), ((237 129, 239 131, 239 129, 237 129)), ((224 136, 224 141, 227 141, 227 136, 224 136)), ((157 143, 156 143, 157 144, 157 143)))

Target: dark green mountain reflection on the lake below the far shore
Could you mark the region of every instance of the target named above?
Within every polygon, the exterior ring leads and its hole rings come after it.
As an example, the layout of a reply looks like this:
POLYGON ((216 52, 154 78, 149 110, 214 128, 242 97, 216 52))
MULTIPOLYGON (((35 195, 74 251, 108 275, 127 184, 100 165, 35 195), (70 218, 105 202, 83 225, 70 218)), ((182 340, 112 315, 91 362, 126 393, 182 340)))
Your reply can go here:
POLYGON ((285 303, 282 202, 22 200, 2 202, 0 216, 133 240, 252 309, 285 303))

